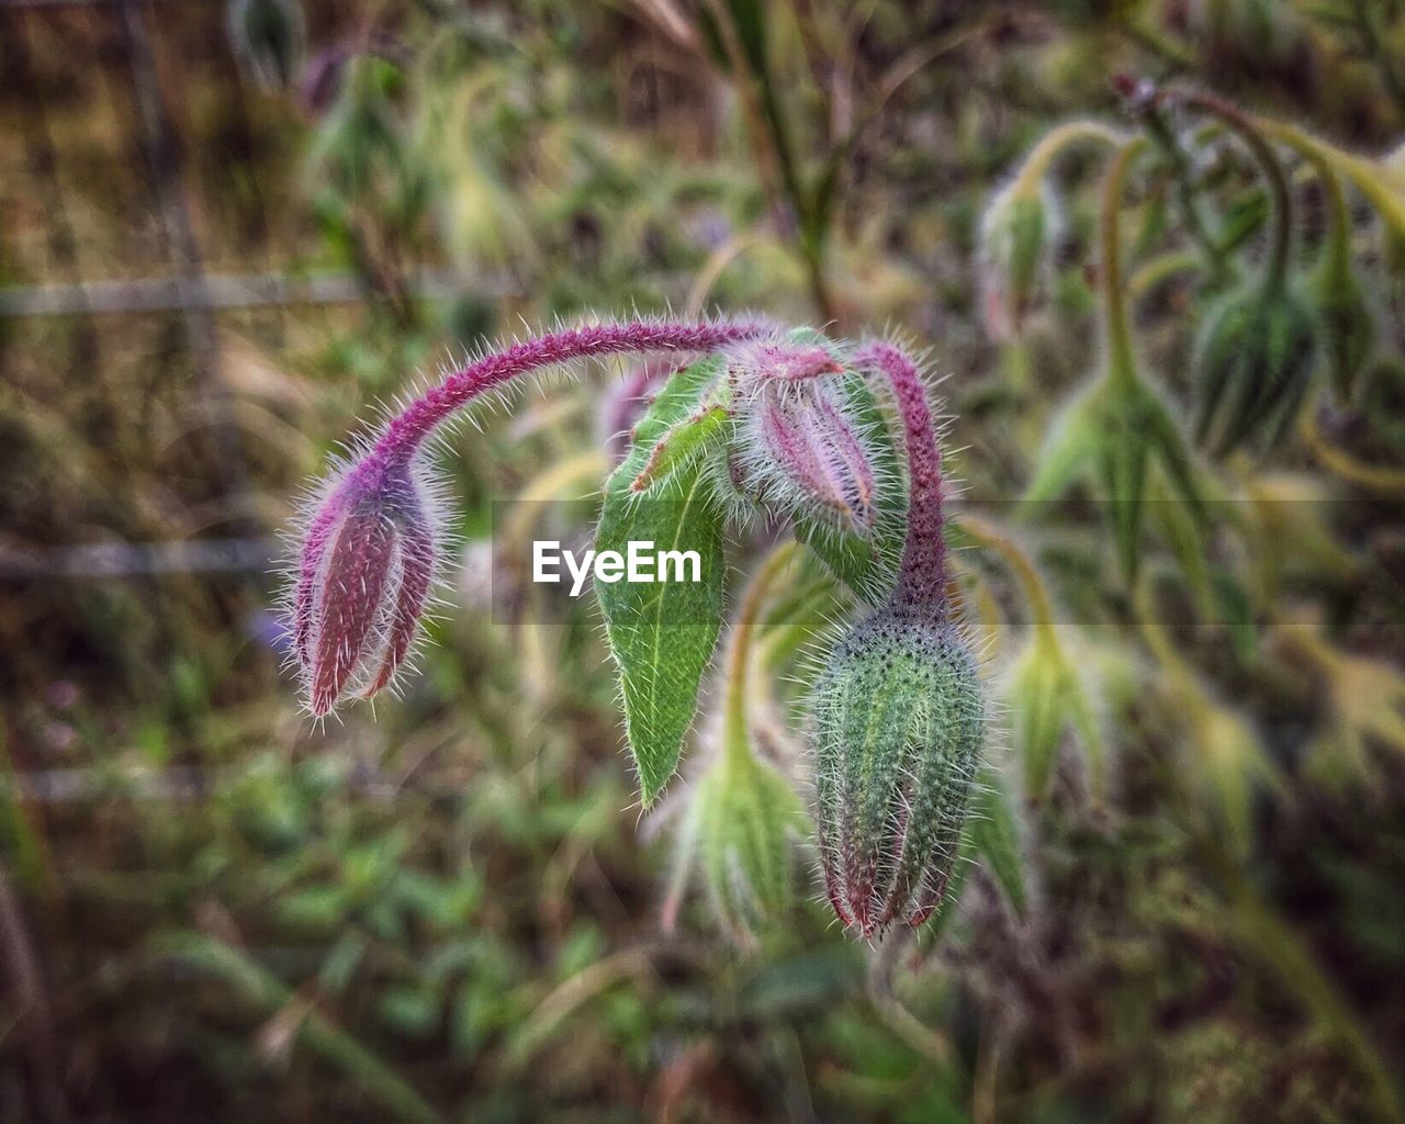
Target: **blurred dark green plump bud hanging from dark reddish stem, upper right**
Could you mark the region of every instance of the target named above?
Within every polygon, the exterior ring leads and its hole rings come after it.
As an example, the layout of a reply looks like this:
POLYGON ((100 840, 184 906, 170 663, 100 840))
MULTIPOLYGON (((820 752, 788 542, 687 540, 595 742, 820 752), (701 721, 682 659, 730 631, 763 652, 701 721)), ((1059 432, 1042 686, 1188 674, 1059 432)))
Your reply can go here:
POLYGON ((1211 312, 1197 355, 1196 440, 1215 457, 1297 416, 1316 351, 1314 319, 1290 289, 1239 291, 1211 312))

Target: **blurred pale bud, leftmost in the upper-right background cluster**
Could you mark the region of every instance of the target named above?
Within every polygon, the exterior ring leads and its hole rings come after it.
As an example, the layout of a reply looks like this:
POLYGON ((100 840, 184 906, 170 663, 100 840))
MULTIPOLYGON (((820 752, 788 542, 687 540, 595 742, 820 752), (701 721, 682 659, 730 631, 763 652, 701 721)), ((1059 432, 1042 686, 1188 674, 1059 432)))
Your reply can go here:
POLYGON ((1034 302, 1048 240, 1050 205, 1040 187, 1016 181, 1000 191, 981 223, 981 291, 986 330, 1000 340, 1017 332, 1034 302))

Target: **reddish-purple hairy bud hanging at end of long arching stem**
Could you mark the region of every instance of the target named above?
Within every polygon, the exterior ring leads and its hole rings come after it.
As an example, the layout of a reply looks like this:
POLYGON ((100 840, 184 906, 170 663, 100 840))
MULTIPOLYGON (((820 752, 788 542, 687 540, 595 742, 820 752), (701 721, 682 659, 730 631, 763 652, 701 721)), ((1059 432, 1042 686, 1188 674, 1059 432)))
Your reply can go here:
POLYGON ((434 577, 431 510, 409 461, 368 457, 333 481, 308 520, 291 615, 315 715, 371 697, 409 655, 434 577))

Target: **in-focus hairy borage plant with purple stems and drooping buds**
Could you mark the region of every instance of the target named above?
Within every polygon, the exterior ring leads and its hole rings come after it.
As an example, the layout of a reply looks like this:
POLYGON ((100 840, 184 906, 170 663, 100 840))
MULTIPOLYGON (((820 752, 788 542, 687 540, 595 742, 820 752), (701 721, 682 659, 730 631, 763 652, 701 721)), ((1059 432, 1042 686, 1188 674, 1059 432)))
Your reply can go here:
POLYGON ((604 483, 597 558, 648 541, 701 559, 695 583, 597 584, 645 808, 677 771, 690 729, 717 729, 687 787, 666 916, 694 870, 731 933, 774 916, 792 884, 799 790, 843 926, 874 937, 922 924, 954 885, 962 849, 1007 851, 1013 836, 982 829, 1010 821, 981 764, 988 704, 950 586, 929 392, 892 343, 851 346, 760 320, 635 320, 538 336, 448 375, 308 504, 289 594, 308 707, 323 717, 375 695, 410 655, 445 554, 430 438, 523 375, 628 354, 653 355, 655 374, 659 355, 672 362, 604 483), (697 722, 725 613, 724 532, 766 517, 787 518, 798 541, 757 568, 722 662, 719 714, 697 722), (774 752, 788 735, 763 729, 754 683, 777 666, 763 649, 784 648, 787 625, 813 613, 804 575, 816 558, 860 608, 813 660, 811 776, 794 777, 794 760, 774 752))

